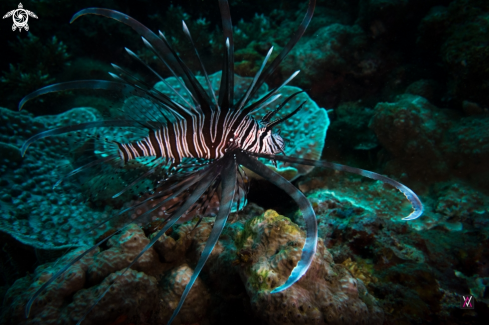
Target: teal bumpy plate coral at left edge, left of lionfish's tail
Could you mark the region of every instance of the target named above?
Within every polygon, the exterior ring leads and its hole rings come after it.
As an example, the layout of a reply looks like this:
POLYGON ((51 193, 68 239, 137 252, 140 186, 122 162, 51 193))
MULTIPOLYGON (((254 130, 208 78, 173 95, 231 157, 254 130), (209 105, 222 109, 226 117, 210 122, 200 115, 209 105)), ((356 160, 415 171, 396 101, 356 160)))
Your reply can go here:
POLYGON ((22 159, 16 148, 20 148, 27 137, 46 128, 74 121, 94 121, 100 118, 99 113, 85 107, 56 116, 33 117, 4 108, 0 110, 0 148, 9 154, 2 154, 0 166, 0 228, 20 242, 37 248, 80 245, 73 237, 84 233, 109 212, 93 211, 84 203, 77 182, 66 180, 56 189, 53 185, 62 178, 65 169, 73 167, 72 149, 79 145, 80 138, 86 139, 86 135, 68 134, 41 140, 33 144, 22 159))

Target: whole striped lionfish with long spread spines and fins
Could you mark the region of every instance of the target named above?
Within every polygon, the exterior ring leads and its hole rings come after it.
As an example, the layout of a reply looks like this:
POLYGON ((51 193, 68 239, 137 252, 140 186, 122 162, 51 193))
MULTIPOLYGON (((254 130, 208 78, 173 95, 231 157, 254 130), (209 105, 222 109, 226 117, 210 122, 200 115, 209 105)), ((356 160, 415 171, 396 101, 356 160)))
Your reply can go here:
MULTIPOLYGON (((248 190, 247 184, 244 181, 242 166, 284 190, 298 204, 305 219, 306 240, 302 249, 301 259, 292 270, 286 282, 273 289, 272 293, 283 291, 292 286, 307 272, 311 265, 317 246, 317 223, 314 210, 300 190, 281 175, 261 163, 258 158, 268 159, 274 164, 276 161, 282 161, 292 164, 327 167, 379 180, 397 188, 410 201, 413 207, 413 212, 409 216, 403 218, 403 220, 416 219, 423 213, 423 206, 417 195, 411 189, 393 179, 374 172, 327 161, 315 161, 285 156, 284 140, 279 132, 274 132, 273 128, 296 114, 305 102, 298 105, 295 110, 283 118, 273 118, 287 102, 297 96, 300 92, 294 93, 286 98, 278 108, 265 114, 260 121, 257 121, 252 117, 254 112, 257 112, 277 99, 279 96, 277 94, 278 91, 299 73, 299 71, 296 71, 283 84, 272 89, 259 100, 253 103, 251 102, 251 98, 257 94, 257 90, 260 86, 262 86, 267 78, 272 75, 285 56, 304 34, 312 19, 315 4, 315 0, 309 1, 307 12, 302 23, 280 54, 267 66, 266 64, 273 48, 269 50, 244 96, 239 99, 234 98, 233 27, 227 0, 219 0, 224 34, 224 51, 222 78, 217 97, 212 90, 209 77, 185 22, 182 22, 183 32, 188 37, 188 40, 195 51, 195 55, 205 76, 209 91, 206 91, 198 82, 196 76, 182 61, 161 31, 159 31, 158 34, 155 34, 137 20, 114 10, 102 8, 88 8, 81 10, 73 16, 71 22, 84 15, 100 15, 115 19, 134 29, 142 37, 145 46, 147 46, 161 63, 168 68, 171 74, 176 77, 182 89, 189 95, 187 98, 189 97, 190 99, 184 99, 171 85, 166 84, 166 86, 182 101, 172 100, 169 96, 149 86, 143 80, 135 77, 127 70, 113 64, 112 66, 116 69, 117 74, 110 73, 110 75, 116 81, 80 80, 54 84, 27 95, 19 104, 19 109, 22 109, 27 101, 51 92, 73 89, 104 89, 116 90, 124 94, 136 95, 148 99, 158 108, 159 116, 155 116, 154 113, 149 114, 147 112, 139 112, 136 118, 101 120, 50 129, 34 135, 28 139, 21 148, 21 152, 24 155, 29 145, 36 140, 90 128, 133 127, 146 129, 148 131, 148 136, 139 141, 130 143, 114 141, 116 154, 93 161, 68 174, 68 176, 70 176, 82 169, 93 167, 97 164, 108 163, 110 161, 119 161, 119 163, 124 165, 138 157, 148 157, 153 158, 156 162, 155 167, 144 173, 143 176, 138 177, 129 186, 141 181, 144 177, 161 175, 161 173, 156 173, 156 170, 162 169, 163 167, 167 168, 166 170, 168 173, 165 173, 165 176, 162 176, 157 180, 157 187, 150 191, 142 202, 140 201, 129 209, 134 209, 144 203, 153 202, 154 200, 159 199, 160 202, 145 213, 148 214, 159 207, 162 207, 169 200, 179 198, 182 193, 187 193, 185 199, 180 200, 181 202, 174 207, 169 215, 165 215, 165 219, 162 220, 164 226, 156 233, 139 255, 126 267, 124 272, 133 266, 138 258, 151 248, 158 238, 178 222, 186 211, 192 207, 201 207, 205 203, 208 203, 209 197, 211 196, 209 193, 216 192, 215 190, 220 187, 219 210, 216 215, 213 229, 199 258, 198 264, 194 269, 194 273, 188 282, 169 323, 171 323, 178 314, 192 285, 216 245, 233 206, 235 206, 236 202, 238 202, 237 209, 240 209, 240 206, 242 206, 242 203, 239 201, 243 199, 243 192, 247 192, 248 190), (280 153, 283 153, 283 155, 279 155, 280 153), (184 168, 186 167, 185 161, 188 159, 191 159, 191 162, 193 162, 190 163, 190 165, 193 166, 190 169, 184 168)), ((165 82, 165 79, 138 55, 127 48, 126 51, 131 57, 149 69, 158 79, 165 82)), ((118 195, 120 195, 120 193, 114 195, 114 197, 118 195)), ((137 218, 140 218, 140 216, 137 218)), ((135 220, 130 220, 129 223, 134 221, 135 220)), ((107 221, 105 220, 103 222, 107 221)), ((99 225, 100 224, 97 226, 99 225)), ((86 254, 94 251, 110 237, 119 233, 124 226, 121 226, 111 236, 100 240, 83 254, 77 256, 68 265, 62 267, 50 280, 45 282, 27 303, 26 317, 29 317, 30 309, 35 299, 53 281, 86 254)), ((83 321, 109 289, 110 286, 98 300, 96 300, 91 308, 89 308, 83 318, 79 320, 78 324, 83 321)))

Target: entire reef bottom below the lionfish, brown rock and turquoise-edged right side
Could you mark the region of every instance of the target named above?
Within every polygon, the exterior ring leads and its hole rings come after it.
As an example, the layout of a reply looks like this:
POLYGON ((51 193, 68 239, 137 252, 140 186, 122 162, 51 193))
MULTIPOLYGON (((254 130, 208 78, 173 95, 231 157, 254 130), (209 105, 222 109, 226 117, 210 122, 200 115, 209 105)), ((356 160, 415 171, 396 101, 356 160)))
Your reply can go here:
MULTIPOLYGON (((303 221, 295 209, 286 217, 250 203, 230 216, 173 324, 479 324, 489 316, 487 198, 440 185, 420 220, 407 223, 402 195, 380 183, 313 172, 298 186, 320 237, 306 275, 271 294, 300 258, 303 221), (460 308, 467 295, 474 309, 460 308)), ((49 285, 26 319, 30 296, 87 247, 42 264, 5 293, 1 322, 76 324, 114 283, 83 324, 165 324, 213 221, 178 225, 123 273, 153 236, 129 226, 49 285)))

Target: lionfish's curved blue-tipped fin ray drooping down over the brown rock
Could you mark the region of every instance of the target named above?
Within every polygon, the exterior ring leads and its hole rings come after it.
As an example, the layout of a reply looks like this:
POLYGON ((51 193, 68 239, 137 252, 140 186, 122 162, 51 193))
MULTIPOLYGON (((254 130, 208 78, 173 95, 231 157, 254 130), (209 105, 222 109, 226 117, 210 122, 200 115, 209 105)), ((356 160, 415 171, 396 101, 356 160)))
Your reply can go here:
POLYGON ((246 153, 238 154, 238 163, 285 191, 299 205, 302 216, 306 222, 306 241, 304 243, 304 247, 302 248, 301 259, 297 263, 296 267, 292 270, 292 273, 287 281, 285 281, 285 283, 281 286, 272 290, 272 293, 280 292, 297 282, 307 272, 312 263, 312 259, 316 253, 318 240, 316 214, 312 209, 311 203, 304 196, 304 194, 302 194, 300 190, 298 190, 294 185, 292 185, 292 183, 280 176, 278 173, 272 171, 258 160, 251 158, 246 153))

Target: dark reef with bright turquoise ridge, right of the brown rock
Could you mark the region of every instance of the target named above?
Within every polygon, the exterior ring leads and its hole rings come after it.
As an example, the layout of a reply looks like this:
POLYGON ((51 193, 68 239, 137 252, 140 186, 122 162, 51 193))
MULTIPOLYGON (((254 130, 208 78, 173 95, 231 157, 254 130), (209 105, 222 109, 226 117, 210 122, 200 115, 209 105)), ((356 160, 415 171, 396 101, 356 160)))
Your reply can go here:
MULTIPOLYGON (((485 301, 489 198, 481 192, 454 181, 433 186, 424 215, 405 223, 402 195, 375 182, 315 169, 299 187, 334 261, 378 299, 386 323, 457 323, 460 295, 485 301)), ((292 220, 303 224, 300 215, 292 220)))

